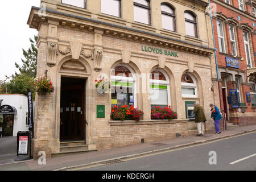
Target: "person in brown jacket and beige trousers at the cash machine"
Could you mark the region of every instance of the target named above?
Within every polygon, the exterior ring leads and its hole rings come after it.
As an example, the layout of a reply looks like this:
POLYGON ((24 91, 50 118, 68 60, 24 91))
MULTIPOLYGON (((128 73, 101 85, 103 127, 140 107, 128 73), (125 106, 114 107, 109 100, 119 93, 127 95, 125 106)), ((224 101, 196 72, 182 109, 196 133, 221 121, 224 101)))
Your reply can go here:
POLYGON ((198 102, 194 104, 194 113, 196 115, 195 122, 197 123, 197 130, 198 134, 196 136, 203 136, 204 135, 204 122, 207 121, 204 115, 204 109, 202 106, 199 105, 198 102))

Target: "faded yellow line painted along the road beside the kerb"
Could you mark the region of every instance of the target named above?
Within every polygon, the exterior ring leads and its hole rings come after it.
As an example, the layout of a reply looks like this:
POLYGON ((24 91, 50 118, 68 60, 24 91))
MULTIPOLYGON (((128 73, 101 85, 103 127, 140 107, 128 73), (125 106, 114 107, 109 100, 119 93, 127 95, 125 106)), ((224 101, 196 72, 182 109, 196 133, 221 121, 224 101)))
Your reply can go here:
MULTIPOLYGON (((127 162, 127 161, 129 161, 129 160, 135 160, 135 159, 146 158, 146 157, 148 157, 148 156, 153 156, 153 155, 158 155, 158 154, 165 154, 165 153, 168 153, 168 152, 173 152, 173 151, 177 151, 177 150, 183 150, 183 149, 186 149, 186 148, 192 148, 192 147, 202 146, 202 145, 204 145, 204 144, 210 144, 210 143, 218 142, 218 141, 221 141, 221 140, 226 140, 226 139, 230 139, 230 138, 236 138, 236 137, 240 137, 240 136, 248 135, 248 134, 252 134, 252 133, 256 133, 256 131, 249 132, 249 133, 245 133, 245 134, 236 135, 236 136, 233 136, 233 137, 227 137, 227 138, 217 139, 217 140, 213 140, 212 142, 200 143, 200 144, 196 144, 196 145, 192 145, 192 146, 176 148, 176 149, 167 150, 167 151, 163 151, 163 152, 155 152, 154 154, 148 154, 148 155, 138 156, 138 157, 135 157, 135 158, 121 159, 121 161, 122 161, 122 162, 127 162)), ((106 164, 96 164, 96 165, 92 165, 92 166, 86 166, 86 167, 81 167, 81 168, 69 169, 68 171, 77 171, 77 170, 80 170, 80 169, 93 168, 93 167, 103 166, 103 165, 106 165, 106 164)))

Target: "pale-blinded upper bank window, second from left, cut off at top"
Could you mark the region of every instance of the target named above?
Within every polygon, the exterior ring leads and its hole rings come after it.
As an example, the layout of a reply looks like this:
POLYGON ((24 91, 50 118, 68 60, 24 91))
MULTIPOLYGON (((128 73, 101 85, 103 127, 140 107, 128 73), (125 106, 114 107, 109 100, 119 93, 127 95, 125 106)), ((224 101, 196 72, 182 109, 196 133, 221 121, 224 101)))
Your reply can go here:
POLYGON ((101 0, 101 13, 121 17, 121 0, 101 0))

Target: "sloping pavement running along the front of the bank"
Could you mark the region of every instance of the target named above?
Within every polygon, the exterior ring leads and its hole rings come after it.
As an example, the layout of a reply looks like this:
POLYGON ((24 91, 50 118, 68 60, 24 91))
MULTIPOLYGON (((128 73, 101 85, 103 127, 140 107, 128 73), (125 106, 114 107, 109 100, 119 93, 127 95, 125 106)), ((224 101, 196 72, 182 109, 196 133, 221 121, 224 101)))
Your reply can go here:
POLYGON ((0 164, 1 170, 53 170, 67 169, 72 166, 85 166, 85 164, 110 162, 118 159, 125 159, 132 156, 150 154, 152 152, 170 150, 171 148, 188 146, 196 143, 203 143, 209 140, 216 140, 233 135, 256 131, 256 125, 242 126, 222 131, 221 134, 207 133, 203 137, 179 137, 172 140, 160 142, 142 143, 133 146, 112 148, 110 150, 94 151, 86 154, 61 156, 59 158, 46 159, 46 165, 39 165, 38 160, 27 162, 0 164))

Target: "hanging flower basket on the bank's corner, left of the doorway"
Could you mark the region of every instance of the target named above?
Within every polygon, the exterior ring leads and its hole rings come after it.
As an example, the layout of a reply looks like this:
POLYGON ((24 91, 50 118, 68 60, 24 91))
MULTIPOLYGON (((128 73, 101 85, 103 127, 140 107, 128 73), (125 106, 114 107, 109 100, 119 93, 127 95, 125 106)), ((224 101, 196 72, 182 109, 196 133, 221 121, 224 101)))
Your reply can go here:
POLYGON ((36 92, 40 95, 45 95, 47 93, 53 93, 54 87, 52 86, 51 79, 48 79, 46 77, 36 77, 34 79, 35 86, 36 86, 36 92))

